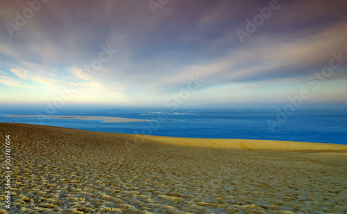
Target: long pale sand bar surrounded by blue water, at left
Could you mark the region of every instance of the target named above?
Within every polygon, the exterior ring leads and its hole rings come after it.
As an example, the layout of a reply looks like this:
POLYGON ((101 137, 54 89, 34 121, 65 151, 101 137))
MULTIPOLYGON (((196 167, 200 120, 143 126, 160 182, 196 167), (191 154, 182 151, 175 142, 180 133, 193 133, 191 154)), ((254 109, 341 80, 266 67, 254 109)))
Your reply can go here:
POLYGON ((76 120, 92 120, 103 121, 105 123, 128 123, 128 122, 143 122, 149 120, 140 120, 132 118, 118 118, 112 116, 49 116, 49 115, 8 115, 11 117, 46 117, 46 118, 58 118, 58 119, 76 119, 76 120))

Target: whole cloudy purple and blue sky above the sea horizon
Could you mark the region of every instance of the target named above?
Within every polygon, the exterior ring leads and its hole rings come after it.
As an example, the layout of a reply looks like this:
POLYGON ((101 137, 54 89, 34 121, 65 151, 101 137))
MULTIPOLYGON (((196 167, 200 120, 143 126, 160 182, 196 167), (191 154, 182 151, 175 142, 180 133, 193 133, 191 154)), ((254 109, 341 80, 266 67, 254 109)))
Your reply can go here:
POLYGON ((346 11, 338 0, 0 1, 0 105, 346 107, 346 11))

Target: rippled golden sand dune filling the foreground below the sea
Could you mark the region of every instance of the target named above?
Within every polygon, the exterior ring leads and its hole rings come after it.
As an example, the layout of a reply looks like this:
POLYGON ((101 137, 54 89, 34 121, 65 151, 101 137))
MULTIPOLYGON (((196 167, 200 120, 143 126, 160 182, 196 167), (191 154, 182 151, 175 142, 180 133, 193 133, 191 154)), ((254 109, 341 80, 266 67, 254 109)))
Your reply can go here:
MULTIPOLYGON (((3 147, 5 135, 12 141, 8 213, 343 213, 347 207, 347 145, 13 123, 0 123, 0 132, 3 147)), ((0 200, 5 213, 4 193, 0 200)))

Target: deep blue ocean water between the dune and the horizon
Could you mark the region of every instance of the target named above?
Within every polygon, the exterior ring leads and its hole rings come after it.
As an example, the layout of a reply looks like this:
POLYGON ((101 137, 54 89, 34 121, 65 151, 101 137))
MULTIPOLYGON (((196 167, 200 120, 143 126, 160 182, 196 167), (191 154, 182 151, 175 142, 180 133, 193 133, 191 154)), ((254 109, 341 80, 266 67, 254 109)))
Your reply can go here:
MULTIPOLYGON (((1 110, 0 122, 69 127, 96 132, 151 134, 211 139, 262 139, 347 145, 346 111, 298 111, 276 118, 271 110, 183 110, 163 114, 146 109, 102 109, 54 112, 55 116, 115 116, 151 120, 133 123, 102 123, 76 119, 9 117, 6 114, 36 115, 34 110, 1 110), (275 123, 270 123, 269 120, 275 123), (274 125, 276 124, 276 125, 274 125), (271 126, 273 127, 271 130, 271 126)), ((44 113, 42 113, 44 115, 44 113)))

